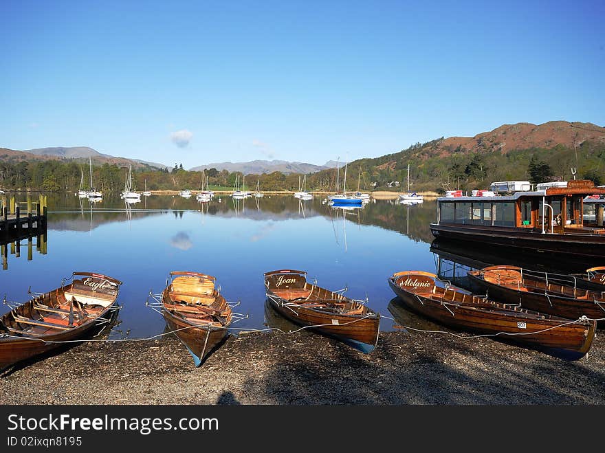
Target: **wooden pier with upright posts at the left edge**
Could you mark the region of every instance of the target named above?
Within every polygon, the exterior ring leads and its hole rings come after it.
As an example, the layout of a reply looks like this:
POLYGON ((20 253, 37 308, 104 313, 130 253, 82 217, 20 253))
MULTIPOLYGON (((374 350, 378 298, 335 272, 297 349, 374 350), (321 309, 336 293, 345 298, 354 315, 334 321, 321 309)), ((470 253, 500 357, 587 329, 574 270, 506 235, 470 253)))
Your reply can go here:
POLYGON ((28 261, 33 258, 33 240, 36 238, 36 250, 46 254, 47 243, 47 205, 46 196, 40 195, 33 201, 28 195, 27 201, 17 203, 14 197, 0 197, 0 259, 2 269, 8 269, 8 250, 10 254, 21 255, 21 241, 28 240, 28 261), (24 210, 20 205, 24 205, 24 210))

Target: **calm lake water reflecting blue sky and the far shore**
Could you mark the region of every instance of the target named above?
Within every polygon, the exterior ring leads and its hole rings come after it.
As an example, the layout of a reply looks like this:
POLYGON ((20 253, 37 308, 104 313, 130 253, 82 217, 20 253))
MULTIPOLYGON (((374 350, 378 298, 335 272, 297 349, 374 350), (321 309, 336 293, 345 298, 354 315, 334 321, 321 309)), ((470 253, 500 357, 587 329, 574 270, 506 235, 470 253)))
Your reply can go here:
MULTIPOLYGON (((24 199, 24 196, 23 196, 24 199)), ((49 195, 46 253, 28 261, 28 241, 17 257, 8 247, 8 269, 0 271, 0 297, 28 300, 28 287, 45 292, 74 271, 100 272, 122 280, 118 301, 129 338, 162 333, 165 322, 145 306, 150 290, 159 293, 170 271, 196 271, 217 277, 234 311, 248 318, 233 325, 263 329, 263 272, 300 269, 328 289, 348 287, 346 296, 369 299, 375 311, 392 316, 393 292, 386 279, 399 270, 435 272, 430 252, 435 202, 405 206, 371 201, 363 209, 343 210, 323 197, 300 201, 292 196, 233 200, 221 195, 210 203, 195 197, 143 197, 126 206, 115 195, 91 205, 73 194, 49 195)), ((0 306, 5 313, 8 307, 0 306)), ((383 319, 383 331, 393 321, 383 319)))

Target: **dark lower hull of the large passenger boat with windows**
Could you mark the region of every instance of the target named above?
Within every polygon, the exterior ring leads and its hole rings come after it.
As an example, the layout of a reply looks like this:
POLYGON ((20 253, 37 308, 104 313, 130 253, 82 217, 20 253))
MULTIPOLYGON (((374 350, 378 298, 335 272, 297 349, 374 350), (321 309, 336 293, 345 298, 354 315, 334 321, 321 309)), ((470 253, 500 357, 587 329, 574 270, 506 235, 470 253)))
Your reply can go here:
POLYGON ((438 239, 465 241, 477 245, 515 247, 529 252, 555 254, 558 257, 587 258, 602 262, 605 256, 605 234, 542 234, 524 228, 482 228, 481 225, 430 224, 438 239))

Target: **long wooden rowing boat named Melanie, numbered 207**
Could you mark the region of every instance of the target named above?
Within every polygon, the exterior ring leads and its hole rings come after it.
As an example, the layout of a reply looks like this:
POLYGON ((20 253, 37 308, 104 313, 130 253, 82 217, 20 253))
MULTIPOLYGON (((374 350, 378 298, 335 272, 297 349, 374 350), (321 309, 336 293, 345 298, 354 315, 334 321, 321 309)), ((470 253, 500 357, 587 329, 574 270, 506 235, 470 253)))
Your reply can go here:
POLYGON ((388 284, 408 309, 453 329, 498 335, 577 360, 590 349, 596 323, 569 320, 475 296, 429 272, 397 272, 388 284))

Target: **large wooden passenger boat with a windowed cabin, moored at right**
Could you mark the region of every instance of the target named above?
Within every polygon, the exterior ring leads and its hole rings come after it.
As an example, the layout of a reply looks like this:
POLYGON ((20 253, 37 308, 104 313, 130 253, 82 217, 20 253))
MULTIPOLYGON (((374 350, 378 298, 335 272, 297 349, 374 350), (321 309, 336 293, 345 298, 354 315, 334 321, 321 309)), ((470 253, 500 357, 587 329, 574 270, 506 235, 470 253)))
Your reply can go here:
POLYGON ((595 220, 587 221, 584 199, 589 195, 603 196, 605 189, 581 180, 504 197, 441 197, 430 230, 436 238, 475 245, 602 258, 605 203, 593 203, 595 220))

